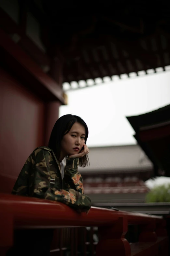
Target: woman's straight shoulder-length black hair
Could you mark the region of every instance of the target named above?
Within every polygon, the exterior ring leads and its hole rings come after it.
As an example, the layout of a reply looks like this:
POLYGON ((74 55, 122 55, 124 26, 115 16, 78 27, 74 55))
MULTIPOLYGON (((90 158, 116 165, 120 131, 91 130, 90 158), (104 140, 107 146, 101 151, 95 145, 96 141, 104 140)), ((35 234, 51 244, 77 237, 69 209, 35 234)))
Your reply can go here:
MULTIPOLYGON (((82 124, 85 128, 86 136, 84 140, 86 144, 86 141, 89 135, 89 130, 85 121, 80 117, 71 115, 71 114, 60 117, 54 124, 54 127, 50 135, 49 144, 48 144, 48 147, 52 149, 52 151, 56 154, 57 159, 60 158, 61 141, 63 136, 70 131, 71 127, 76 122, 82 124)), ((88 165, 88 163, 89 163, 88 155, 84 155, 83 157, 79 158, 79 166, 85 167, 88 165)))

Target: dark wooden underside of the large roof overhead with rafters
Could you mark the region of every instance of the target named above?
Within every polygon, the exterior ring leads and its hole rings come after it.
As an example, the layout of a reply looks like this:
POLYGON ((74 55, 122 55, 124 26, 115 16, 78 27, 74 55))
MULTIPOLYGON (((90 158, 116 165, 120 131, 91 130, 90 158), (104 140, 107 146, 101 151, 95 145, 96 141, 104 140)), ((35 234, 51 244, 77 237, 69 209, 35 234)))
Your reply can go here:
POLYGON ((170 65, 168 1, 67 5, 31 0, 47 53, 59 53, 63 82, 137 73, 170 65))

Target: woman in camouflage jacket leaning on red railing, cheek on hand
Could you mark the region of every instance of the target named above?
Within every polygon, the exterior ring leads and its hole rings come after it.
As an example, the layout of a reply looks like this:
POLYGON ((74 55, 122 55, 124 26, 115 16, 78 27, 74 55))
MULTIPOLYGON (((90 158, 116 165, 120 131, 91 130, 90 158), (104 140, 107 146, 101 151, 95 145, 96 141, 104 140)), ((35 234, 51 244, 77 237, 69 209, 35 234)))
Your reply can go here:
MULTIPOLYGON (((12 193, 62 202, 87 214, 91 208, 91 199, 83 194, 82 177, 78 172, 78 166, 85 167, 88 164, 87 138, 88 127, 80 117, 64 115, 59 118, 51 132, 48 147, 38 147, 28 157, 12 193)), ((28 255, 29 253, 31 255, 49 254, 51 229, 40 231, 34 229, 34 232, 26 230, 24 234, 32 237, 32 247, 27 246, 28 255), (29 232, 31 235, 28 234, 29 232), (40 237, 38 246, 33 234, 36 240, 40 237)), ((26 243, 28 242, 28 238, 25 239, 24 235, 21 237, 20 234, 18 237, 20 238, 15 242, 17 253, 19 248, 21 250, 21 245, 25 247, 25 242, 21 242, 22 237, 26 243)), ((26 253, 25 250, 24 253, 26 253)))

